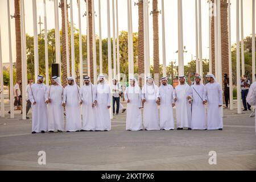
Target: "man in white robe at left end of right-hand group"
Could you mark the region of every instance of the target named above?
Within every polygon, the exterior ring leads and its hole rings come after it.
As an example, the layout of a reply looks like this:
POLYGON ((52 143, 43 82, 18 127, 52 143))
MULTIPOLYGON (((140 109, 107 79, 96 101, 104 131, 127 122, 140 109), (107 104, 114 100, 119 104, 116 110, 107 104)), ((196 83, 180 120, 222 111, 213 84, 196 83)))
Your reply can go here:
POLYGON ((130 78, 130 85, 125 89, 125 100, 127 101, 126 130, 142 130, 141 89, 136 78, 130 78))

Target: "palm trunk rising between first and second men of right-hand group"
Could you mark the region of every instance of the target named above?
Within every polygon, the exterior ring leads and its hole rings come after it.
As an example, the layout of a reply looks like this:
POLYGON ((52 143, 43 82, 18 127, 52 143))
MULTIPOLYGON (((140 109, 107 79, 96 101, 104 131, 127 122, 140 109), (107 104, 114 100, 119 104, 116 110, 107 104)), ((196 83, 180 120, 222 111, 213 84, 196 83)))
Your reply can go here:
POLYGON ((144 82, 144 24, 143 24, 143 0, 138 2, 138 13, 139 13, 139 35, 138 35, 138 73, 142 76, 139 77, 139 86, 142 87, 144 82))

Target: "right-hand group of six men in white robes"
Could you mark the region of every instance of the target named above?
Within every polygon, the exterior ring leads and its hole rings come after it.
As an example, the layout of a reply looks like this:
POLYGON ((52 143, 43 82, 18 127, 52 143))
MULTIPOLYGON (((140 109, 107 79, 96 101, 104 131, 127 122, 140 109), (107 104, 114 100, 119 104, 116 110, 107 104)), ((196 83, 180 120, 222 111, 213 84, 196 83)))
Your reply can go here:
POLYGON ((141 90, 137 80, 130 78, 129 86, 125 90, 126 130, 174 130, 175 105, 177 130, 223 129, 222 90, 214 75, 207 75, 206 85, 203 84, 203 78, 196 76, 195 84, 192 86, 185 82, 185 76, 180 76, 179 85, 175 89, 167 84, 166 77, 160 80, 161 85, 158 87, 154 79, 148 76, 141 90), (142 108, 143 114, 140 110, 142 108))

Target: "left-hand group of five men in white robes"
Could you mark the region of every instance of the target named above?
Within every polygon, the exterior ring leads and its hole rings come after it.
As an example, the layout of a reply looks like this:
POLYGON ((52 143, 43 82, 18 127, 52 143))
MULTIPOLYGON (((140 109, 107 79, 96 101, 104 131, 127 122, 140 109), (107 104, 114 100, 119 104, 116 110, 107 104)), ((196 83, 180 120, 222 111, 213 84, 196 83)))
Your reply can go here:
POLYGON ((60 78, 54 76, 52 84, 47 87, 43 84, 44 77, 39 75, 37 82, 28 89, 28 98, 32 103, 32 134, 46 131, 110 131, 110 87, 105 76, 98 77, 98 85, 93 85, 90 77, 84 77, 82 88, 73 77, 67 81, 68 85, 63 88, 60 78))

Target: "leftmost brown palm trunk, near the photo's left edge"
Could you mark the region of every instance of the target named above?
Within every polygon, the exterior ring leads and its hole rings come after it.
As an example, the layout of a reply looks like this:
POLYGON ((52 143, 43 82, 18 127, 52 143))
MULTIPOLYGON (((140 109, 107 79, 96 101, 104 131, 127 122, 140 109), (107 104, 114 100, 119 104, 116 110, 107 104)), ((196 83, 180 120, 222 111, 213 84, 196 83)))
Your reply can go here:
MULTIPOLYGON (((20 0, 14 0, 14 18, 16 35, 16 80, 22 80, 21 37, 20 37, 20 0)), ((22 93, 22 85, 20 85, 22 93)))

